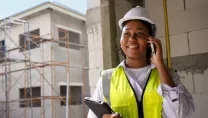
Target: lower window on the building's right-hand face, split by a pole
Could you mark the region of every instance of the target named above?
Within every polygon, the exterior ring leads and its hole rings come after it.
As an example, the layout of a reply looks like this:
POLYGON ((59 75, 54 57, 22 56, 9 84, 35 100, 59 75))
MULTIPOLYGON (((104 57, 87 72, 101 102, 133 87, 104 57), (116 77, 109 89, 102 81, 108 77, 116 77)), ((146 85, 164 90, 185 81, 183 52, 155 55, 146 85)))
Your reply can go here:
MULTIPOLYGON (((81 86, 71 86, 71 105, 82 104, 82 87, 81 86)), ((60 94, 64 97, 64 101, 61 100, 61 106, 66 105, 66 86, 60 86, 60 94)))

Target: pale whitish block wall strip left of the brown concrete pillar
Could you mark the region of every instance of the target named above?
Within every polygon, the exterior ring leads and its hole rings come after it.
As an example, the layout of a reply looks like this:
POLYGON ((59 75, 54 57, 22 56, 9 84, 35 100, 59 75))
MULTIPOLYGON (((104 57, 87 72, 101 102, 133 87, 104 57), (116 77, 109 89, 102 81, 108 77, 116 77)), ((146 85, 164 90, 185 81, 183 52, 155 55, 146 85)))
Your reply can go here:
POLYGON ((89 86, 90 94, 94 93, 96 83, 103 70, 103 45, 101 31, 100 0, 88 0, 87 36, 89 51, 89 86))

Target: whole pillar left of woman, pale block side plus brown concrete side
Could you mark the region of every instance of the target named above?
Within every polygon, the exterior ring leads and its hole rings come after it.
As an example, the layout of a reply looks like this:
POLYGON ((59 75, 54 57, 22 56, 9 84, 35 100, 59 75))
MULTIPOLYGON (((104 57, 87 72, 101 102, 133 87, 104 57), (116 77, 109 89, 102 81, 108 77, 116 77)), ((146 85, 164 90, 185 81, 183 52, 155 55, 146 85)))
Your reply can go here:
POLYGON ((119 63, 114 3, 114 0, 88 0, 86 23, 91 96, 100 78, 100 72, 116 67, 119 63))

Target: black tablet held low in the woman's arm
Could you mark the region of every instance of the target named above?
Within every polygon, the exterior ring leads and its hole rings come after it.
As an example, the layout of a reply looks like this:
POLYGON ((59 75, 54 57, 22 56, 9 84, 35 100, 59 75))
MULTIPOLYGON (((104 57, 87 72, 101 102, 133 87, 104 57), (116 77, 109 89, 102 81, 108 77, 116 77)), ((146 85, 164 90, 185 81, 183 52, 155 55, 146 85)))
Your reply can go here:
POLYGON ((98 118, 102 118, 103 114, 115 114, 110 106, 103 101, 85 97, 84 102, 98 118))

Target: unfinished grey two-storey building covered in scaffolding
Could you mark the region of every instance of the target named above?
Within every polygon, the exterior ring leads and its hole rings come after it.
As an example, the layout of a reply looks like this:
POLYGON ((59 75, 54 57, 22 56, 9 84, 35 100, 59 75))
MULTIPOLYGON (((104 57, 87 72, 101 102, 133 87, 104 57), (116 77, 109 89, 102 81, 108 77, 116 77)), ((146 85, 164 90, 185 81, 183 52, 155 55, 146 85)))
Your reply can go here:
POLYGON ((86 116, 85 20, 45 2, 0 21, 0 118, 86 116))

